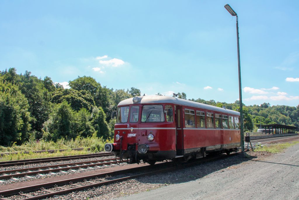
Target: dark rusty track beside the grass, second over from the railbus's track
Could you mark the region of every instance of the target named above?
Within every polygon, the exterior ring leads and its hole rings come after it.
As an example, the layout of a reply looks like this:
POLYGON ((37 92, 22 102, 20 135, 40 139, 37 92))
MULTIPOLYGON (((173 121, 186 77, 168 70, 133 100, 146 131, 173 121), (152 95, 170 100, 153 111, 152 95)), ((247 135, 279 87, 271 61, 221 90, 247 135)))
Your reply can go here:
POLYGON ((84 159, 84 158, 113 156, 113 155, 114 155, 113 153, 107 152, 107 153, 84 154, 84 155, 74 155, 74 156, 37 158, 37 159, 28 159, 28 160, 11 160, 11 161, 0 162, 0 167, 27 165, 33 163, 48 163, 48 162, 62 161, 62 160, 84 159))

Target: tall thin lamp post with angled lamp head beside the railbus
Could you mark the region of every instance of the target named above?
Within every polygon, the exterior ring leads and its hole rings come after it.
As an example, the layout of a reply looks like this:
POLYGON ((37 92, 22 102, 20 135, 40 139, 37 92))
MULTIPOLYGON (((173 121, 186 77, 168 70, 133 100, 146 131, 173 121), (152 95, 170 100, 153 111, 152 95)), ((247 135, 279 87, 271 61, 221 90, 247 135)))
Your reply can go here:
POLYGON ((232 15, 236 16, 236 26, 237 26, 237 51, 238 51, 238 72, 239 72, 239 103, 240 103, 240 134, 241 134, 241 151, 244 152, 244 130, 243 130, 243 104, 242 104, 242 87, 241 87, 241 67, 240 67, 240 49, 239 49, 239 25, 238 25, 238 15, 231 8, 230 5, 225 4, 225 9, 232 15))

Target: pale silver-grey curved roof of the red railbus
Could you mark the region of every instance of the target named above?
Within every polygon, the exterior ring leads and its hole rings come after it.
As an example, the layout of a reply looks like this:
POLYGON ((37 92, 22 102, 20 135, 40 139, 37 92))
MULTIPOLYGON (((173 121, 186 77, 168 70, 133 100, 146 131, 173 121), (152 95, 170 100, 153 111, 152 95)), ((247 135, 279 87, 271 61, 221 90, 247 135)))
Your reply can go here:
POLYGON ((213 111, 218 111, 218 112, 225 112, 233 115, 240 115, 239 112, 234 111, 234 110, 229 110, 229 109, 224 109, 224 108, 219 108, 216 106, 210 106, 204 103, 198 103, 194 101, 189 101, 189 100, 184 100, 184 99, 179 99, 179 98, 174 98, 174 97, 167 97, 167 96, 140 96, 138 97, 138 101, 136 103, 133 103, 133 98, 125 99, 121 101, 118 106, 126 106, 130 104, 138 104, 138 103, 173 103, 177 105, 182 105, 182 106, 192 106, 196 108, 202 108, 202 109, 208 109, 208 110, 213 110, 213 111))

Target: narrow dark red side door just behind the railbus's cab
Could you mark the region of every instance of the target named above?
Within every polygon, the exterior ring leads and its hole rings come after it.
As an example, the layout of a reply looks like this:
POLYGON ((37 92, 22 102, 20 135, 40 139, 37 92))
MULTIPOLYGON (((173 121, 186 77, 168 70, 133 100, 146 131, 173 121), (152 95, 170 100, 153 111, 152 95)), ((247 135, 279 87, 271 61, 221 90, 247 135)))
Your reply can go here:
POLYGON ((178 156, 182 156, 184 152, 182 110, 182 106, 176 106, 176 155, 178 156))

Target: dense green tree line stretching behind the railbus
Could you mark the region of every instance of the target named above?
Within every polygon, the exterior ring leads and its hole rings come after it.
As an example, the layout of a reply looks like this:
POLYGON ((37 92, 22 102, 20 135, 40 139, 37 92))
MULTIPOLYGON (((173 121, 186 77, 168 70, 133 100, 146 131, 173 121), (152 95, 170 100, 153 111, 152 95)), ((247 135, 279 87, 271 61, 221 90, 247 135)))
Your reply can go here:
MULTIPOLYGON (((90 76, 78 76, 69 86, 64 89, 50 77, 37 78, 28 71, 17 74, 15 68, 0 72, 0 145, 21 144, 29 137, 53 141, 77 136, 110 138, 116 121, 111 112, 121 100, 141 96, 137 88, 114 90, 90 76)), ((176 97, 187 99, 184 92, 176 97)), ((238 101, 189 100, 239 110, 238 101)), ((299 121, 299 105, 243 105, 243 113, 245 130, 253 130, 254 124, 260 123, 298 126, 299 121)))

